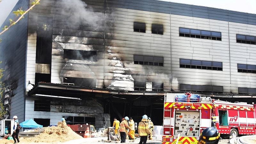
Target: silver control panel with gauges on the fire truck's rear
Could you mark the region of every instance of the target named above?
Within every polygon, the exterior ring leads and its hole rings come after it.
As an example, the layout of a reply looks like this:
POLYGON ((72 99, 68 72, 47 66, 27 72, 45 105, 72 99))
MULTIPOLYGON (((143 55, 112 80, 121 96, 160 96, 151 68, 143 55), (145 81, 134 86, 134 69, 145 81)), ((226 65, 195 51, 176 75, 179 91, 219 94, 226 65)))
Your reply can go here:
POLYGON ((175 111, 174 135, 199 136, 199 111, 175 111))

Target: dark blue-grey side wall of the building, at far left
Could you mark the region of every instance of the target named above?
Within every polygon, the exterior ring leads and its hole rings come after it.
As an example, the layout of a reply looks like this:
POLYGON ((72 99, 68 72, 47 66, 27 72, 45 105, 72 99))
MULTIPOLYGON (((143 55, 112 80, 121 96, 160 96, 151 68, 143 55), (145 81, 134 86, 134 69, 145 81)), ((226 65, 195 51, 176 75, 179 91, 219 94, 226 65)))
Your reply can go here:
MULTIPOLYGON (((28 0, 20 0, 12 11, 19 8, 28 9, 28 0)), ((11 12, 5 20, 4 25, 9 25, 9 19, 15 19, 15 15, 11 12)), ((9 118, 16 115, 20 122, 24 121, 25 116, 25 65, 26 65, 26 46, 27 46, 27 26, 28 15, 25 15, 17 24, 13 25, 0 38, 1 68, 4 68, 3 81, 5 86, 11 86, 10 111, 7 113, 9 118)), ((1 27, 1 28, 2 28, 1 27)), ((8 93, 8 92, 7 92, 8 93)), ((6 93, 6 94, 7 94, 6 93)))

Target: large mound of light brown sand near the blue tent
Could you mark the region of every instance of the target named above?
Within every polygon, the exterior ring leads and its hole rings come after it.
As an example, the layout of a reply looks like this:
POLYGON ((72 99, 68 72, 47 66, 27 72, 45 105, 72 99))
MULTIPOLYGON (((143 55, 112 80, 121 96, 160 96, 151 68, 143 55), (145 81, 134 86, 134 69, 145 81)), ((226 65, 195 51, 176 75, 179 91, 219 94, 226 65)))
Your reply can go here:
POLYGON ((33 138, 24 139, 22 142, 57 143, 82 138, 83 137, 76 134, 76 132, 72 131, 72 129, 67 125, 63 125, 61 122, 58 122, 57 126, 48 127, 39 135, 33 138))

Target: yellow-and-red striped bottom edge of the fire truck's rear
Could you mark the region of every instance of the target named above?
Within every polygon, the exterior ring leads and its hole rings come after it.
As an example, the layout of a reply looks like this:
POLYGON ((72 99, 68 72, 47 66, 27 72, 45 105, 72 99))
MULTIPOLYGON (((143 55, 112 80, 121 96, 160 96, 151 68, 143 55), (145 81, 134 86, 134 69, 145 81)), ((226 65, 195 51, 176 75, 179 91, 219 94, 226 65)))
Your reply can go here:
MULTIPOLYGON (((163 138, 172 138, 173 136, 163 136, 163 138)), ((176 144, 177 140, 173 140, 172 142, 162 142, 162 144, 176 144)), ((180 137, 179 144, 197 144, 196 137, 180 137)))

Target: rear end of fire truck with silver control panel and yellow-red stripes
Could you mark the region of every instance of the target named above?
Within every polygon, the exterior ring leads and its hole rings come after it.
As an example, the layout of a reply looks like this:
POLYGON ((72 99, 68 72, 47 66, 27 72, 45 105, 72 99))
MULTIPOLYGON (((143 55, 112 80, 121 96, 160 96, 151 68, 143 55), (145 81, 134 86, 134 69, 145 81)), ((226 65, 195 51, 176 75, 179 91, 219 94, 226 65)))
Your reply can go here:
POLYGON ((200 133, 211 127, 212 99, 197 94, 166 93, 162 144, 197 144, 200 133))

